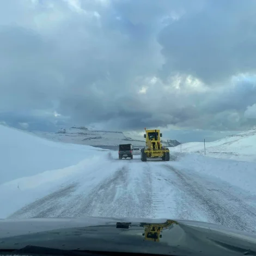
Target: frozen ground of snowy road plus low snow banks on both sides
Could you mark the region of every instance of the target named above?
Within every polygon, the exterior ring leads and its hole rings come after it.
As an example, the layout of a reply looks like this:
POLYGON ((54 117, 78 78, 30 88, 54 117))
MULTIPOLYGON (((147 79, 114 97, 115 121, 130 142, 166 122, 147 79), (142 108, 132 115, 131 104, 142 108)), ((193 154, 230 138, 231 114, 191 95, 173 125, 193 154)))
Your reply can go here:
POLYGON ((76 165, 0 185, 0 218, 175 218, 256 230, 253 163, 198 154, 141 162, 139 156, 118 160, 115 151, 84 150, 91 155, 76 165))

